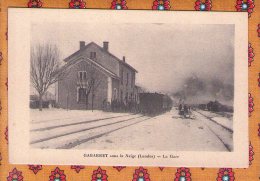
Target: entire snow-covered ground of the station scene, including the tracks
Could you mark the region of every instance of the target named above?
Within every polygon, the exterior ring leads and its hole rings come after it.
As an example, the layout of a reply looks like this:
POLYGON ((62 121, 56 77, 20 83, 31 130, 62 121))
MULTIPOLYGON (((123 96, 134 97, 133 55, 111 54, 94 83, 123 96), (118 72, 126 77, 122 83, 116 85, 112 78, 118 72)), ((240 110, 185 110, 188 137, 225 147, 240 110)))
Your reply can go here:
POLYGON ((32 110, 31 116, 31 145, 37 148, 167 151, 233 149, 233 134, 195 111, 192 119, 181 118, 176 109, 156 117, 62 109, 42 112, 32 110))

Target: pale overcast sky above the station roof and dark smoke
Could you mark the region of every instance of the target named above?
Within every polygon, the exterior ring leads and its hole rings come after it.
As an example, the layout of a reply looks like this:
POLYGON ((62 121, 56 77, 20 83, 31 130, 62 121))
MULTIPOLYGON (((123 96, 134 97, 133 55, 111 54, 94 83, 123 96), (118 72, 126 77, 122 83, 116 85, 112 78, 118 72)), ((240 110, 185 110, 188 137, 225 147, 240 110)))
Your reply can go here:
POLYGON ((109 51, 126 56, 137 84, 150 91, 174 92, 192 75, 234 84, 233 25, 39 23, 31 30, 32 43, 56 44, 62 58, 79 41, 109 41, 109 51))

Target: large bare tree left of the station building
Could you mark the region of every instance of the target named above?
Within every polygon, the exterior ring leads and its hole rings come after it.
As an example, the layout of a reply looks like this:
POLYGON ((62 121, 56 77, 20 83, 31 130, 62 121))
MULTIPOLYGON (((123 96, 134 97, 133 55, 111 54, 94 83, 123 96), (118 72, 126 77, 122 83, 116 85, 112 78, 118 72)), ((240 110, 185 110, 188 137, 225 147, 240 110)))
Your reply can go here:
POLYGON ((31 47, 30 78, 32 86, 39 94, 39 110, 42 110, 42 98, 48 88, 64 77, 59 64, 59 50, 50 44, 38 44, 31 47))

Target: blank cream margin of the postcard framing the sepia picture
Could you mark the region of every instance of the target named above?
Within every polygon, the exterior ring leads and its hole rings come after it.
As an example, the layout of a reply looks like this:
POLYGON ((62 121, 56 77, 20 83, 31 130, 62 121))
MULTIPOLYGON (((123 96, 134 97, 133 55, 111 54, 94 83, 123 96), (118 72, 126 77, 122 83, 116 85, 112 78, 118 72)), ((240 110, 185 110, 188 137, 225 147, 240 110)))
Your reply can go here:
POLYGON ((248 167, 248 17, 237 12, 8 9, 9 161, 14 164, 248 167), (30 26, 41 21, 79 23, 175 23, 235 25, 234 151, 173 152, 32 149, 29 145, 30 26), (174 159, 84 157, 84 154, 175 155, 174 159))

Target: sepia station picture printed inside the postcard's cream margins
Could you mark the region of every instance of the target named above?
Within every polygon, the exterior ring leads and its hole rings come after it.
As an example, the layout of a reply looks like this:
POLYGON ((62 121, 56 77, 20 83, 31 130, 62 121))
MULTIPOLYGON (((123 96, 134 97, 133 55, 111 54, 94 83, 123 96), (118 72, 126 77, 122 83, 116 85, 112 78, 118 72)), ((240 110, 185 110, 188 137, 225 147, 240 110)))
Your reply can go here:
POLYGON ((232 151, 234 33, 234 25, 33 24, 31 146, 232 151))

